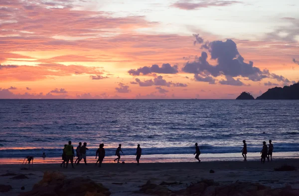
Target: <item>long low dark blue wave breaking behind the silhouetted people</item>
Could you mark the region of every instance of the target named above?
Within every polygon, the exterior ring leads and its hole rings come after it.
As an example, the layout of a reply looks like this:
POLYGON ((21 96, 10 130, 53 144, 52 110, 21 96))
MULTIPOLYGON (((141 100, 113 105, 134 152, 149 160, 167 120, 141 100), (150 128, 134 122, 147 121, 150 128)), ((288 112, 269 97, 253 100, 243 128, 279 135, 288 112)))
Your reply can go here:
MULTIPOLYGON (((204 144, 200 146, 201 153, 240 153, 242 146, 213 146, 204 144)), ((248 152, 260 152, 262 146, 247 146, 248 152)), ((87 151, 88 156, 94 156, 97 148, 90 148, 87 151)), ((115 148, 105 148, 107 156, 115 155, 115 148)), ((144 155, 155 155, 155 154, 193 154, 195 152, 194 146, 189 147, 166 147, 166 148, 142 148, 144 155)), ((136 148, 123 148, 125 155, 135 155, 136 148)), ((297 152, 299 151, 299 143, 289 143, 289 144, 276 144, 274 146, 274 152, 297 152)), ((48 157, 59 157, 62 154, 62 149, 52 148, 52 149, 5 149, 0 150, 0 158, 11 158, 11 157, 25 157, 27 155, 39 157, 42 153, 45 153, 48 157)))

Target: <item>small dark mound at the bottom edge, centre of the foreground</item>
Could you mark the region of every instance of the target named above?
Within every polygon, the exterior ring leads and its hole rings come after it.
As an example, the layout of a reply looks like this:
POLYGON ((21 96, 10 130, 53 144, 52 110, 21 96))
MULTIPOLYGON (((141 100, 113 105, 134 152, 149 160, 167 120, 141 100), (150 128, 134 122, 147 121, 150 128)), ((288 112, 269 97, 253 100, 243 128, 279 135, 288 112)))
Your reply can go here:
POLYGON ((144 193, 148 195, 158 195, 158 196, 169 196, 171 191, 166 187, 151 183, 148 181, 145 185, 141 186, 139 193, 144 193))

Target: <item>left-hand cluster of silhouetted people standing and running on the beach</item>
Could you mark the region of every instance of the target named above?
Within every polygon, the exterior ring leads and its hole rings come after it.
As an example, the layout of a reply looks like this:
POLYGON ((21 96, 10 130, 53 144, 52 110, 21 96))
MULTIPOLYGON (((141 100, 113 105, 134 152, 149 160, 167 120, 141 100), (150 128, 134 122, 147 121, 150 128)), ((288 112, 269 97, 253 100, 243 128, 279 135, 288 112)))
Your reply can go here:
MULTIPOLYGON (((79 142, 79 145, 76 148, 76 154, 77 154, 77 159, 75 161, 76 165, 79 165, 79 163, 80 163, 80 161, 82 159, 84 160, 85 165, 87 165, 87 162, 86 162, 86 150, 88 150, 88 148, 86 146, 87 146, 86 142, 83 143, 83 146, 82 146, 82 143, 79 142)), ((123 151, 122 151, 122 144, 119 144, 119 147, 116 149, 115 155, 117 156, 117 158, 114 159, 114 162, 116 160, 117 160, 117 163, 120 162, 120 159, 121 159, 120 152, 123 153, 123 151)), ((142 154, 142 149, 140 147, 140 144, 138 144, 137 145, 137 149, 136 149, 137 165, 139 165, 139 160, 140 160, 141 154, 142 154)), ((103 162, 103 160, 105 158, 105 149, 104 149, 104 144, 103 143, 99 145, 99 148, 96 151, 96 159, 97 159, 97 157, 98 157, 98 160, 96 162, 96 166, 99 163, 99 167, 102 167, 102 162, 103 162)), ((62 165, 63 165, 63 167, 67 168, 68 164, 69 164, 69 161, 70 161, 72 167, 74 168, 74 164, 73 164, 74 159, 73 158, 75 158, 74 147, 72 145, 72 142, 69 141, 68 144, 64 145, 63 153, 62 153, 62 160, 63 160, 63 162, 60 164, 60 167, 62 167, 62 165)))

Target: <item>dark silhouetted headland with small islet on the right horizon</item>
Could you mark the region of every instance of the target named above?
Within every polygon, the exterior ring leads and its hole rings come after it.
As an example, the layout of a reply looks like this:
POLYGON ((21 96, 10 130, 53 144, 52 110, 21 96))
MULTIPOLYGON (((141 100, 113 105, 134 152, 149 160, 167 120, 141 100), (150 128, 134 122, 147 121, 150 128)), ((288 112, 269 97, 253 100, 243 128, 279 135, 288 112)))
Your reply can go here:
MULTIPOLYGON (((236 99, 254 99, 249 93, 243 92, 236 99)), ((299 99, 299 83, 285 86, 284 88, 275 87, 268 89, 266 93, 256 99, 299 99)))

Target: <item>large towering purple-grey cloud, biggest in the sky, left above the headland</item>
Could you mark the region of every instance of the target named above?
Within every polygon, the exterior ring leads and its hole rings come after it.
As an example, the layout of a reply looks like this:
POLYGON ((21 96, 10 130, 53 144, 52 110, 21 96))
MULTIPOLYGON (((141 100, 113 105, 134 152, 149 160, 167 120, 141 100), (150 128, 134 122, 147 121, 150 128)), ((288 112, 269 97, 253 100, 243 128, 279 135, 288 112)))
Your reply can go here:
POLYGON ((227 39, 224 41, 209 42, 208 50, 211 54, 211 59, 216 60, 216 65, 211 65, 208 61, 208 54, 202 52, 201 56, 193 62, 187 62, 182 68, 183 72, 194 74, 195 81, 208 82, 215 84, 216 77, 225 76, 228 80, 220 81, 223 85, 244 85, 240 80, 235 80, 233 77, 243 77, 246 80, 261 81, 264 78, 273 78, 278 81, 290 82, 283 76, 272 74, 269 70, 261 71, 258 67, 253 66, 253 62, 244 62, 237 49, 237 44, 227 39))

